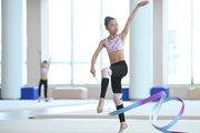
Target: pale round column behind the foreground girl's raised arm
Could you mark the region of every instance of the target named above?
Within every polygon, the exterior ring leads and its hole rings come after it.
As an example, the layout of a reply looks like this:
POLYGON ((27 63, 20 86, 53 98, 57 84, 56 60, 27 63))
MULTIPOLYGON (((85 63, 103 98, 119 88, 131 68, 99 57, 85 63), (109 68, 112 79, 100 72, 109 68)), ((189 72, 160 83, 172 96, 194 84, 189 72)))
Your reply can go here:
MULTIPOLYGON (((130 12, 138 2, 130 0, 130 12)), ((129 99, 149 96, 152 88, 152 1, 139 9, 131 23, 129 73, 129 99)))

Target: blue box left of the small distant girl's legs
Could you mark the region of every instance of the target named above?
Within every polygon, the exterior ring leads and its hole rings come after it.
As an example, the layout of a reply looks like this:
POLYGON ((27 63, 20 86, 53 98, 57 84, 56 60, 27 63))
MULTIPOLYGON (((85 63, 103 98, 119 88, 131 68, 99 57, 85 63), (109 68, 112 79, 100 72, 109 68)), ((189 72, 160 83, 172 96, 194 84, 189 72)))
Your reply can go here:
POLYGON ((37 100, 38 86, 21 88, 21 100, 37 100))

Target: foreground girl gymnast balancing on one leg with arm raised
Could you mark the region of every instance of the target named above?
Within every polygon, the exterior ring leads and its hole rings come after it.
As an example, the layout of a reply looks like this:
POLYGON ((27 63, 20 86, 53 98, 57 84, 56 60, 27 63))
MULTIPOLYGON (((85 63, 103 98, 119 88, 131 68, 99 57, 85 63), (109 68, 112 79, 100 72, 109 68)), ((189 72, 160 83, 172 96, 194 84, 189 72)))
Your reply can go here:
MULTIPOLYGON (((100 93, 99 104, 97 108, 98 113, 101 113, 103 111, 104 96, 106 96, 110 76, 111 76, 111 86, 112 86, 112 92, 113 92, 113 102, 116 104, 116 108, 117 110, 120 110, 123 108, 123 103, 121 100, 122 98, 121 80, 128 73, 128 66, 127 66, 124 53, 123 53, 124 39, 128 34, 131 21, 134 18, 137 11, 139 10, 140 7, 143 7, 148 3, 149 1, 147 0, 147 1, 141 1, 136 6, 134 10, 131 12, 130 17, 128 18, 122 32, 119 34, 118 34, 117 20, 112 17, 107 17, 104 19, 104 25, 106 25, 106 29, 109 31, 110 35, 100 41, 99 47, 97 48, 92 57, 91 70, 90 70, 93 76, 96 76, 96 69, 94 69, 96 60, 100 51, 103 48, 106 48, 109 54, 111 65, 101 70, 102 80, 101 80, 101 93, 100 93)), ((119 114, 119 121, 120 121, 119 133, 122 133, 123 130, 128 127, 123 113, 119 114)))

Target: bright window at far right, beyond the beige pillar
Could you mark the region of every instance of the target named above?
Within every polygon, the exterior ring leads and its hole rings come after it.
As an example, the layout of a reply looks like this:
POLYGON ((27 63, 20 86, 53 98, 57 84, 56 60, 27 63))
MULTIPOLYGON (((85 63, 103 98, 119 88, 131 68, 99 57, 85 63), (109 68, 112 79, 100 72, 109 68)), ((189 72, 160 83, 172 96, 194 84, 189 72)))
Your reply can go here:
POLYGON ((168 0, 169 84, 200 83, 199 4, 199 0, 168 0))

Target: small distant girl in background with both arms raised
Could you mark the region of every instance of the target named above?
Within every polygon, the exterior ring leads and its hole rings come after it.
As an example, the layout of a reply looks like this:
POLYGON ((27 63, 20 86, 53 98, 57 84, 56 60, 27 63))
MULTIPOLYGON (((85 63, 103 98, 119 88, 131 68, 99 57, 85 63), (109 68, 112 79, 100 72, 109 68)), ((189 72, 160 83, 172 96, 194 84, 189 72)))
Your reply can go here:
POLYGON ((39 51, 40 54, 40 82, 39 82, 39 88, 38 88, 38 95, 39 95, 39 100, 38 102, 40 102, 41 100, 41 86, 43 85, 43 93, 44 93, 44 101, 48 101, 48 72, 49 72, 49 66, 50 66, 50 61, 51 58, 49 59, 49 64, 47 61, 41 62, 41 52, 39 51))

